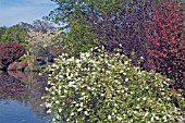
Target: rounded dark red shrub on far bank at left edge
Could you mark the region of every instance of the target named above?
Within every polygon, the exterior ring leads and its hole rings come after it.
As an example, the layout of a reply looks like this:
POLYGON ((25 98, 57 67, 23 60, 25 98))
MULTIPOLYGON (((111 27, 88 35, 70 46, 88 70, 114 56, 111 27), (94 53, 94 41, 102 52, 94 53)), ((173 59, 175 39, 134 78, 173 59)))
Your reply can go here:
POLYGON ((9 64, 16 61, 25 53, 24 47, 16 41, 0 44, 0 65, 7 69, 9 64))

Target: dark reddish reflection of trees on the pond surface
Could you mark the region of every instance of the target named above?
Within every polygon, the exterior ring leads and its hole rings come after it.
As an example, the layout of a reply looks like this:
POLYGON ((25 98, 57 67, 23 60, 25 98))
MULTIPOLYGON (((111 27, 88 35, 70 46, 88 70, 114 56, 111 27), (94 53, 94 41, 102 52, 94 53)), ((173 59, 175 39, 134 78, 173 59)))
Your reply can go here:
POLYGON ((40 104, 44 102, 41 96, 45 94, 46 82, 47 76, 39 76, 38 73, 3 73, 0 75, 0 98, 28 102, 38 116, 44 116, 45 109, 40 104))

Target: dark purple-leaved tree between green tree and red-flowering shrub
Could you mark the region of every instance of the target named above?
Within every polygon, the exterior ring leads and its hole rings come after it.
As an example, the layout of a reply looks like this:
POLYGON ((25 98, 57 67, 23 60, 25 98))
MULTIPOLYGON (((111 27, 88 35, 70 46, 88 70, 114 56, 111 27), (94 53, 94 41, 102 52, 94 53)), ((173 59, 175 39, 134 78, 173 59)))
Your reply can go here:
POLYGON ((137 64, 140 57, 145 60, 148 58, 145 28, 146 22, 151 17, 151 1, 134 0, 120 11, 91 14, 87 22, 96 27, 100 45, 113 51, 121 44, 120 52, 132 58, 133 63, 137 64))

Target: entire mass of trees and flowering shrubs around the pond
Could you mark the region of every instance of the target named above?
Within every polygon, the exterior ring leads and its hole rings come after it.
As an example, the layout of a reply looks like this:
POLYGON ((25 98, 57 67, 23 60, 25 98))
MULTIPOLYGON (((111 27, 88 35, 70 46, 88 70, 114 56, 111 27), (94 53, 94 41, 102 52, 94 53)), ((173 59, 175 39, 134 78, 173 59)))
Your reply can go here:
POLYGON ((50 122, 184 122, 183 1, 52 1, 46 21, 0 27, 2 70, 48 74, 50 122))

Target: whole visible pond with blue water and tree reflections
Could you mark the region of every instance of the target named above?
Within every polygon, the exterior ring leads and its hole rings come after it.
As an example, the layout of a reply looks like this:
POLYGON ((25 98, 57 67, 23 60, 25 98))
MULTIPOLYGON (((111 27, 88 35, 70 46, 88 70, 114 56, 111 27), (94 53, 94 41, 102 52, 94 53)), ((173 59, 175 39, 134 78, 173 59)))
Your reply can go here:
POLYGON ((41 96, 47 76, 38 73, 0 73, 0 123, 47 123, 50 116, 41 96))

